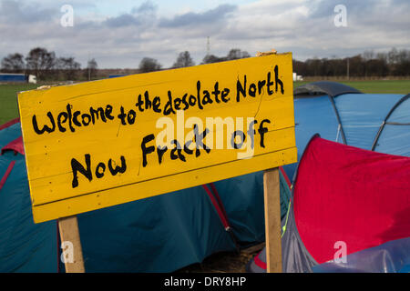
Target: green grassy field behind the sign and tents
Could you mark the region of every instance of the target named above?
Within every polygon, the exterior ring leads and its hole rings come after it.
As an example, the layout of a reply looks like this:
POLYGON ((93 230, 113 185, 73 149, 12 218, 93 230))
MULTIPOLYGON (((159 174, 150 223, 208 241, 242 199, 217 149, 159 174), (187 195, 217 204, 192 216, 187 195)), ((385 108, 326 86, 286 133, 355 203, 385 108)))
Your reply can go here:
MULTIPOLYGON (((303 85, 308 82, 295 82, 294 86, 303 85)), ((374 81, 350 81, 340 82, 364 93, 410 93, 410 80, 374 80, 374 81)), ((39 85, 0 85, 0 125, 18 117, 17 92, 36 88, 39 85)))

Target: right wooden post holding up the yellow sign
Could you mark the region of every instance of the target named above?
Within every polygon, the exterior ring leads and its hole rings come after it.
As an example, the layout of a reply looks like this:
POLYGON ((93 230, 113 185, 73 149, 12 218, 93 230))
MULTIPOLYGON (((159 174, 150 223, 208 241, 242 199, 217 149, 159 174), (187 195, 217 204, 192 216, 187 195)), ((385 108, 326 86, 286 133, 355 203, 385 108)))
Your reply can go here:
POLYGON ((281 189, 279 168, 263 172, 266 272, 282 273, 281 189))

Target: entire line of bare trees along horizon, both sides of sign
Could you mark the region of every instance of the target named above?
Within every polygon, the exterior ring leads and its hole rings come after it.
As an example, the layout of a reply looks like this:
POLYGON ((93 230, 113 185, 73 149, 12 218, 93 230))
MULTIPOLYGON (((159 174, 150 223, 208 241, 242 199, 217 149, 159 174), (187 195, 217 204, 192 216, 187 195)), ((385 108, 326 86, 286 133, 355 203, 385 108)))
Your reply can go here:
MULTIPOLYGON (((223 61, 250 57, 239 48, 232 48, 227 55, 205 55, 200 64, 211 64, 223 61)), ((195 65, 190 53, 179 53, 171 68, 195 65)), ((140 73, 159 71, 163 66, 155 58, 144 57, 139 65, 140 73)), ((74 57, 57 57, 55 52, 36 47, 24 56, 19 53, 10 54, 1 62, 1 72, 24 73, 36 75, 40 81, 46 80, 88 80, 96 78, 98 68, 95 59, 81 69, 74 57)), ((344 58, 310 58, 305 61, 293 60, 293 72, 303 76, 359 76, 384 77, 388 75, 410 75, 410 50, 391 49, 387 53, 365 51, 361 55, 344 58)))

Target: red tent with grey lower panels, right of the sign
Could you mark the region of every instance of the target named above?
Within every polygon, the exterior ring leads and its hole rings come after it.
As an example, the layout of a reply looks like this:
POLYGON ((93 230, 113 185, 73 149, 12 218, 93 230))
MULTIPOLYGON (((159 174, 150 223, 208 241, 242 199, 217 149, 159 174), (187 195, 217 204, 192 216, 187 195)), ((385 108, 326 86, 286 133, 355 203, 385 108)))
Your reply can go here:
MULTIPOLYGON (((392 254, 389 260, 356 258, 358 266, 352 261, 350 270, 372 270, 365 267, 367 262, 379 272, 392 271, 397 267, 385 264, 403 266, 410 260, 409 252, 397 251, 410 237, 409 157, 344 146, 315 135, 302 155, 292 190, 289 216, 282 219, 284 272, 312 272, 314 266, 332 261, 338 242, 347 247, 347 258, 392 242, 370 252, 380 254, 384 249, 383 254, 392 254)), ((263 272, 260 262, 265 261, 263 251, 251 261, 249 271, 263 272)))

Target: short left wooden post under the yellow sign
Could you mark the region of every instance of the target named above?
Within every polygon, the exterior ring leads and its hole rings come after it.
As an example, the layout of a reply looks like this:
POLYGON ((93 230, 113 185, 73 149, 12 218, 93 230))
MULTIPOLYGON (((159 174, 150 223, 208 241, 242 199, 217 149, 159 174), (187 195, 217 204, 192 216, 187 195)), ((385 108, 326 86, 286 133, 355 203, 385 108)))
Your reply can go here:
MULTIPOLYGON (((71 243, 73 261, 69 262, 70 254, 66 254, 63 249, 65 257, 66 273, 85 273, 83 251, 81 248, 81 241, 78 231, 77 216, 69 216, 58 219, 58 229, 60 232, 61 244, 65 242, 71 243)), ((63 256, 64 256, 63 255, 63 256)))

